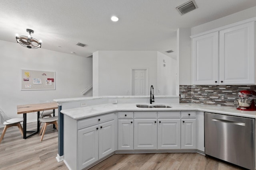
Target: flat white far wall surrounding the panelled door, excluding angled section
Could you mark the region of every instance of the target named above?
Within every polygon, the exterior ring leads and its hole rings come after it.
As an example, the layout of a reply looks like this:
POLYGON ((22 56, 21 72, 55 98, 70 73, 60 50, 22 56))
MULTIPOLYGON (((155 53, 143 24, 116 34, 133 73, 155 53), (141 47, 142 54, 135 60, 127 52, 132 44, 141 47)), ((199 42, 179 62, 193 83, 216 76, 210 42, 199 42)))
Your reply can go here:
POLYGON ((132 68, 149 68, 149 84, 157 88, 156 54, 156 51, 98 51, 98 89, 93 88, 94 94, 98 90, 98 96, 131 95, 132 68))

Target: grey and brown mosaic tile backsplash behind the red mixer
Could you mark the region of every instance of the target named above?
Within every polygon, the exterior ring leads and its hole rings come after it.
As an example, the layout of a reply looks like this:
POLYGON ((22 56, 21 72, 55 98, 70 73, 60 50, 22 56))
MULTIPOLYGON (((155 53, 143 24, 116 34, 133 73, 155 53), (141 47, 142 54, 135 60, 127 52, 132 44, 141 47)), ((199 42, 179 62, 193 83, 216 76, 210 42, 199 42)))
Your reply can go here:
POLYGON ((255 90, 256 85, 180 85, 180 103, 233 106, 241 90, 255 90))

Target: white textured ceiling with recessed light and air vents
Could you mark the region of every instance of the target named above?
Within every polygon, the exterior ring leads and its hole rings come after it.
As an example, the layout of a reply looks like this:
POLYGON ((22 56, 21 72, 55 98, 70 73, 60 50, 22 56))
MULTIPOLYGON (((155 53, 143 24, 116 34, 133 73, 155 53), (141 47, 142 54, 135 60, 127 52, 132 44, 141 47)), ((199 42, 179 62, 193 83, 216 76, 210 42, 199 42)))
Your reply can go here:
POLYGON ((180 16, 175 8, 186 1, 1 0, 0 39, 16 42, 15 34, 27 35, 29 28, 32 37, 42 39, 42 48, 82 57, 98 50, 139 50, 175 58, 178 28, 256 6, 256 0, 195 0, 198 9, 180 16), (113 15, 118 22, 110 20, 113 15), (88 46, 76 46, 78 42, 88 46), (165 53, 171 49, 174 53, 165 53))

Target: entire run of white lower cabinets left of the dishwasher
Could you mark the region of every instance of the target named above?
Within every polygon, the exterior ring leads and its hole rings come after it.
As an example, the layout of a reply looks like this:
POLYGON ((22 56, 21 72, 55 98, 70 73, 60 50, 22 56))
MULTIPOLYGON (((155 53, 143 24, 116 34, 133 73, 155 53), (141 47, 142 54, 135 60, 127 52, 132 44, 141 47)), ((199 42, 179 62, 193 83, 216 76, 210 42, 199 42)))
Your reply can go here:
POLYGON ((65 161, 71 169, 88 168, 116 150, 204 151, 204 112, 121 111, 118 117, 112 113, 77 122, 65 117, 64 121, 78 127, 77 131, 65 129, 66 137, 75 137, 73 132, 77 132, 77 152, 71 145, 76 144, 76 140, 67 138, 64 143, 65 161))

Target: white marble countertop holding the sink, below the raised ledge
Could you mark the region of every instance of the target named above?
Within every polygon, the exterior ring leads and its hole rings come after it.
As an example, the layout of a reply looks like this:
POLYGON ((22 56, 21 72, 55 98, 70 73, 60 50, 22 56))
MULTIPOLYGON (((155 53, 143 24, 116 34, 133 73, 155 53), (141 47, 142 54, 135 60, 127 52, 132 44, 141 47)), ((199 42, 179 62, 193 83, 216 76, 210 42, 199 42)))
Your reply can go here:
MULTIPOLYGON (((153 104, 154 105, 154 104, 153 104)), ((236 107, 213 106, 205 104, 165 104, 172 108, 139 108, 136 104, 101 104, 88 107, 61 110, 60 112, 75 120, 103 115, 115 111, 206 111, 225 115, 256 118, 256 111, 241 111, 236 107)))

